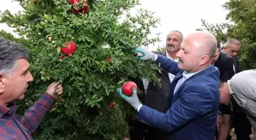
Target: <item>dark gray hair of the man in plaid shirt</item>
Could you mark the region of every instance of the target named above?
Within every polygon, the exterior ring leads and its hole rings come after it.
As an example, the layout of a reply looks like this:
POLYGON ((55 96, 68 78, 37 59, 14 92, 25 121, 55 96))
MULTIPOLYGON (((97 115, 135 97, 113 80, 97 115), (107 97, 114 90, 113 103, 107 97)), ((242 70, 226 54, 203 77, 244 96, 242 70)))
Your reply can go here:
POLYGON ((12 73, 18 65, 18 59, 29 59, 27 48, 11 40, 0 39, 0 73, 12 73))

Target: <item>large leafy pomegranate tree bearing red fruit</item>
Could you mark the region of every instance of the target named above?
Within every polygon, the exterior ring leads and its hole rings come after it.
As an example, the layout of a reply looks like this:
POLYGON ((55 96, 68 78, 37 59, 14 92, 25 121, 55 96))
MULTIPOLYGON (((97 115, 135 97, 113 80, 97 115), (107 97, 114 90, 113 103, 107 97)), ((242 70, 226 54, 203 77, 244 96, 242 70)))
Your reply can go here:
POLYGON ((126 120, 136 111, 117 95, 117 88, 131 79, 158 81, 158 66, 131 52, 157 41, 148 36, 158 19, 145 9, 131 15, 130 9, 139 5, 135 0, 16 1, 24 11, 4 11, 0 21, 20 37, 2 36, 30 49, 34 76, 18 113, 34 104, 50 82, 60 81, 64 88, 34 139, 126 138, 126 120))

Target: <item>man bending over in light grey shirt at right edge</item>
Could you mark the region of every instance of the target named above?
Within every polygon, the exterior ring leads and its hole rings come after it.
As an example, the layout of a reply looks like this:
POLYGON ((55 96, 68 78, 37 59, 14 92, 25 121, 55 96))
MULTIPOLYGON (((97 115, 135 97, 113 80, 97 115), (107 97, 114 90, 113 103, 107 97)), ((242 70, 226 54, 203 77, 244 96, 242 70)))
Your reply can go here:
POLYGON ((245 113, 251 125, 254 127, 254 140, 256 140, 255 85, 256 69, 253 69, 237 73, 232 79, 228 80, 228 82, 221 82, 219 86, 220 102, 228 105, 230 98, 234 98, 235 103, 240 107, 240 110, 245 113))

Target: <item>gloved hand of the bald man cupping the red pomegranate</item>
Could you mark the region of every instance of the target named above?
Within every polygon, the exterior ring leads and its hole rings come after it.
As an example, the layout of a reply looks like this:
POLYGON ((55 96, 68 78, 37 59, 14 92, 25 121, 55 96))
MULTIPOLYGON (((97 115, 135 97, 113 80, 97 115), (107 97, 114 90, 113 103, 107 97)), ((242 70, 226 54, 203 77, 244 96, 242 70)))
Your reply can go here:
MULTIPOLYGON (((142 106, 142 104, 139 101, 137 90, 136 88, 133 88, 133 95, 132 96, 126 96, 123 94, 122 89, 118 88, 117 93, 123 98, 125 101, 127 101, 135 110, 138 110, 139 107, 142 106)), ((138 110, 139 111, 139 110, 138 110)))

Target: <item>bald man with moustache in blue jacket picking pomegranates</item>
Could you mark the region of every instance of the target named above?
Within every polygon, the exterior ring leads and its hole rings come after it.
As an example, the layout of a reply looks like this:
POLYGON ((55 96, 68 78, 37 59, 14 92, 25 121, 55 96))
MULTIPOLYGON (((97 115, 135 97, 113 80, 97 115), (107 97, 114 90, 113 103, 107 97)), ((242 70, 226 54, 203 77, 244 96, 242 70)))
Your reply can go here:
POLYGON ((154 54, 146 48, 133 51, 140 60, 155 60, 156 64, 175 75, 171 82, 166 113, 142 105, 133 95, 119 95, 139 112, 139 120, 170 132, 171 140, 213 140, 219 109, 219 70, 211 65, 217 41, 211 33, 196 32, 181 44, 179 62, 154 54))

